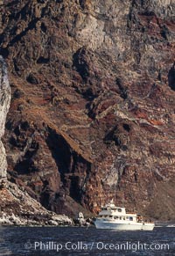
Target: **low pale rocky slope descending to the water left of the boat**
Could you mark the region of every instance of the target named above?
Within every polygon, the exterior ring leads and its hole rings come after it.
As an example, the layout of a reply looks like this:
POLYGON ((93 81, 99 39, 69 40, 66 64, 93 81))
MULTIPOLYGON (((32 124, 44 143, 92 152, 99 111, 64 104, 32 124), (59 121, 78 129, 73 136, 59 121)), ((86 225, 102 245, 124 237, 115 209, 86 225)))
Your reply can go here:
POLYGON ((84 216, 76 219, 45 209, 16 184, 6 181, 0 188, 0 225, 15 226, 88 226, 84 216))

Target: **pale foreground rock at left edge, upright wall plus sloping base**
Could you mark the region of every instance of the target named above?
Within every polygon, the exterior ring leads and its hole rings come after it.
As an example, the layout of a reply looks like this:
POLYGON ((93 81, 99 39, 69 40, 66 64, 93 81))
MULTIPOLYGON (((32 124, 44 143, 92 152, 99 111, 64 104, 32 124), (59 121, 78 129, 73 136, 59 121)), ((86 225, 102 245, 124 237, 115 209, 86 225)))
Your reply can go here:
MULTIPOLYGON (((4 135, 6 115, 11 102, 11 88, 4 58, 0 55, 0 135, 4 135)), ((0 138, 1 138, 0 136, 0 138)), ((56 216, 32 199, 22 187, 7 180, 7 161, 4 145, 0 141, 0 224, 72 223, 66 216, 56 216)))

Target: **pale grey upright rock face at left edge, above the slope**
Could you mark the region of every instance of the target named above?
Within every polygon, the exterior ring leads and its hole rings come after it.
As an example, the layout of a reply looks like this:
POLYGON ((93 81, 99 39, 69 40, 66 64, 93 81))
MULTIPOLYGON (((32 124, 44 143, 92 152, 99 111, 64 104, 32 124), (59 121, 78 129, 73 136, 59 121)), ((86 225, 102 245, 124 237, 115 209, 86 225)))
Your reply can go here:
POLYGON ((0 181, 6 179, 7 161, 4 144, 1 137, 4 135, 6 115, 11 102, 11 89, 7 77, 7 68, 2 56, 0 56, 0 181))

